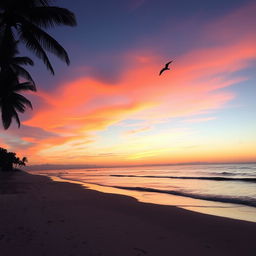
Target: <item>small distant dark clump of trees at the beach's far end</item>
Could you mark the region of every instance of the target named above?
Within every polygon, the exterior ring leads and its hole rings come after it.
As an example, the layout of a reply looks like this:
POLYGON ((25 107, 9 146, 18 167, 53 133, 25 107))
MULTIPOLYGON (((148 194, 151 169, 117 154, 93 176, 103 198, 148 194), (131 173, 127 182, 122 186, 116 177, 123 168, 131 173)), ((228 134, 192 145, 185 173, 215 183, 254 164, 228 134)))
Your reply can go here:
POLYGON ((28 162, 26 157, 20 159, 14 152, 8 152, 4 148, 0 148, 0 171, 13 171, 14 167, 25 166, 28 162))

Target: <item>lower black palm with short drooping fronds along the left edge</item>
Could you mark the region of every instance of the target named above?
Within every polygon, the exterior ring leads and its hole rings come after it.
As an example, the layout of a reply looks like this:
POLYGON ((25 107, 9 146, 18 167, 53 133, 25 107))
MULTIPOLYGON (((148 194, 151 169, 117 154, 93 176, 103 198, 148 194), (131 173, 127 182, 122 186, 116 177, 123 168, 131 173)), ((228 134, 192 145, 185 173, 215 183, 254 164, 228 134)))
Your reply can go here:
POLYGON ((8 129, 14 118, 20 127, 18 112, 24 113, 26 107, 32 108, 31 102, 19 94, 20 91, 36 91, 35 83, 29 72, 21 65, 33 65, 28 57, 17 57, 17 41, 8 40, 11 35, 6 33, 2 44, 9 42, 6 51, 0 52, 0 108, 4 129, 8 129), (28 80, 20 82, 20 77, 28 80))

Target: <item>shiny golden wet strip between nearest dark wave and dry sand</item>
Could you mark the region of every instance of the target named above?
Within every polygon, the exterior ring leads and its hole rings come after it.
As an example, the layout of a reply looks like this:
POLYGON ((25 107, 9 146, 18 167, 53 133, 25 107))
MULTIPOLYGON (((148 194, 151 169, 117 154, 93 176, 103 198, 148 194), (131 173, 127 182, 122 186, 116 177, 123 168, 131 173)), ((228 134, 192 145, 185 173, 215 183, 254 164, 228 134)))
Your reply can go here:
MULTIPOLYGON (((36 174, 35 172, 29 172, 36 174)), ((71 184, 79 184, 86 189, 92 189, 103 193, 116 195, 125 195, 133 197, 142 203, 151 203, 165 206, 175 206, 178 208, 194 211, 202 214, 231 218, 236 220, 244 220, 256 223, 256 208, 253 206, 234 204, 230 202, 216 202, 203 199, 195 199, 178 195, 154 193, 152 191, 125 190, 113 186, 104 186, 101 184, 87 183, 75 179, 62 178, 59 176, 43 176, 49 177, 53 181, 68 182, 71 184), (145 196, 146 195, 146 196, 145 196)))

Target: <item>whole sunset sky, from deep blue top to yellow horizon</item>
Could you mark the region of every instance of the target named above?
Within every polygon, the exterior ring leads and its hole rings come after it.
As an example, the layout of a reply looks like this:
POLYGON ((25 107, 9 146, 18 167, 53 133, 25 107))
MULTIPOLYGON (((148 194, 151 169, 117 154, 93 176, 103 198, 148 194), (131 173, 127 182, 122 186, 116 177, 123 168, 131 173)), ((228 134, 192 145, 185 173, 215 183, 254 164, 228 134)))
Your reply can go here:
POLYGON ((0 130, 29 164, 256 162, 256 2, 55 1, 71 65, 28 68, 33 110, 0 130), (170 60, 171 70, 159 76, 170 60))

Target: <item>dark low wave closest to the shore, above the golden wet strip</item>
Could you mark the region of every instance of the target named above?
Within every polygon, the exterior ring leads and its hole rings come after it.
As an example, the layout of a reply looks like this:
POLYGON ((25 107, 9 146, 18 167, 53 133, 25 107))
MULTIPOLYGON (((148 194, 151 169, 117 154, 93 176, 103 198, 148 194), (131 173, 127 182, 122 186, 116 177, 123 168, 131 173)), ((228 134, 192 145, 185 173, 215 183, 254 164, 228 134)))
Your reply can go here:
POLYGON ((214 202, 221 202, 221 203, 241 204, 241 205, 256 207, 256 200, 250 197, 239 197, 239 198, 221 197, 221 196, 215 196, 215 195, 201 195, 201 194, 193 194, 193 193, 187 193, 187 192, 176 191, 176 190, 160 190, 160 189, 145 188, 145 187, 123 187, 123 186, 114 186, 114 187, 119 189, 126 189, 126 190, 170 194, 170 195, 190 197, 190 198, 200 199, 200 200, 207 200, 207 201, 214 201, 214 202))

